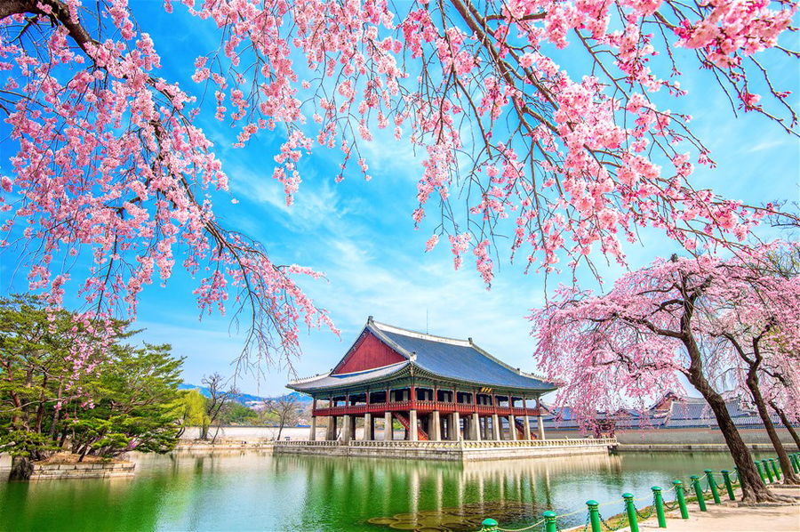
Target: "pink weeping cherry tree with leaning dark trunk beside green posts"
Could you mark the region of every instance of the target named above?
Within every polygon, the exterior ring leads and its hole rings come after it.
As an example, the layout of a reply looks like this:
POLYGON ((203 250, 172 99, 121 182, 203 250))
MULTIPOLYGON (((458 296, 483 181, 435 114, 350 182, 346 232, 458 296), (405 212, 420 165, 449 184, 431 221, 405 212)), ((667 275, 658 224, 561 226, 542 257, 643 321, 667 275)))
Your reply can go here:
MULTIPOLYGON (((556 405, 568 404, 582 417, 598 408, 616 411, 631 398, 644 409, 667 391, 682 389, 677 375, 684 375, 716 417, 745 499, 771 499, 721 393, 728 374, 742 371, 728 336, 740 344, 747 339, 743 350, 758 351, 747 351, 745 359, 761 357, 796 382, 796 363, 784 362, 800 342, 800 284, 797 278, 764 276, 753 260, 673 256, 622 276, 608 294, 562 289, 557 301, 532 314, 540 369, 564 383, 556 405), (732 312, 752 322, 734 325, 732 312), (772 327, 787 332, 789 343, 772 343, 764 333, 772 327)), ((749 367, 740 382, 747 381, 749 367)))

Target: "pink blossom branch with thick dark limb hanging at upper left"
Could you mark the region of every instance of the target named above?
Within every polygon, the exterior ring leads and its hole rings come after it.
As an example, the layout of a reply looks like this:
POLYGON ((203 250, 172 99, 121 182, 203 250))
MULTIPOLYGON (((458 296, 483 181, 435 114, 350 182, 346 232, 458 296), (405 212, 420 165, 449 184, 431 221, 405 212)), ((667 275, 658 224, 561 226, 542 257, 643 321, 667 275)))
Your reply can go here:
POLYGON ((200 278, 201 315, 226 305, 246 315, 240 362, 252 352, 291 359, 300 324, 333 329, 294 281, 320 274, 272 262, 260 243, 217 222, 209 192, 227 190, 228 177, 193 125, 194 98, 153 74, 160 58, 126 4, 99 9, 0 2, 0 111, 20 147, 13 177, 2 178, 3 246, 24 248, 30 289, 54 307, 81 252, 91 252, 80 288, 86 320, 135 315, 142 288, 170 278, 183 254, 200 278))

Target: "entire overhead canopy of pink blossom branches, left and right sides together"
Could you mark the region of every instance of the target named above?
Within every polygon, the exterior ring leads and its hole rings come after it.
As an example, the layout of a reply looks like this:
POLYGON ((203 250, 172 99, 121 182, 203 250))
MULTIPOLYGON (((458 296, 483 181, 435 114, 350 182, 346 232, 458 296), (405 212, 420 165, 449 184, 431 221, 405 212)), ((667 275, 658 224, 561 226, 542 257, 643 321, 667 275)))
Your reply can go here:
POLYGON ((233 307, 260 356, 296 352, 302 324, 332 327, 295 281, 318 274, 274 262, 214 215, 228 175, 196 125, 206 91, 237 145, 282 131, 273 177, 289 204, 312 149, 341 150, 337 179, 352 165, 368 179, 364 142, 394 130, 423 154, 413 220, 439 206, 428 249, 446 235, 458 267, 471 248, 487 284, 504 234, 512 256, 548 271, 593 249, 624 262, 620 241, 641 227, 694 251, 740 246, 765 216, 798 221, 695 189, 694 165, 712 155, 691 117, 664 103, 684 97, 681 72, 699 67, 734 112, 796 134, 763 63, 796 64, 780 42, 790 0, 185 4, 220 36, 188 88, 159 77, 156 44, 126 0, 0 0, 0 111, 16 151, 0 179, 4 246, 20 249, 30 289, 53 305, 75 282, 87 317, 132 317, 143 287, 181 261, 201 311, 233 307), (558 64, 562 49, 577 66, 558 64))

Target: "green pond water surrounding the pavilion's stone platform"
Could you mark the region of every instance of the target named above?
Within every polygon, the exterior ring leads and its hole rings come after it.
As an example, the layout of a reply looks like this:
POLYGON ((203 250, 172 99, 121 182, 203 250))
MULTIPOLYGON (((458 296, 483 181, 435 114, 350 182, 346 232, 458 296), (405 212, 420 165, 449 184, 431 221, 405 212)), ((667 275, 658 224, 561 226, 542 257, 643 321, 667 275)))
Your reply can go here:
MULTIPOLYGON (((730 457, 721 453, 628 453, 463 465, 255 451, 135 459, 132 479, 0 482, 0 530, 386 532, 390 529, 366 520, 465 505, 482 505, 481 512, 491 514, 503 502, 516 504, 517 515, 501 524, 519 526, 538 520, 548 509, 559 514, 580 511, 587 499, 620 501, 625 491, 649 497, 653 485, 667 488, 672 479, 706 468, 732 469, 730 457)), ((604 515, 620 511, 621 504, 602 508, 604 515)), ((582 525, 585 515, 564 518, 559 527, 582 525)))

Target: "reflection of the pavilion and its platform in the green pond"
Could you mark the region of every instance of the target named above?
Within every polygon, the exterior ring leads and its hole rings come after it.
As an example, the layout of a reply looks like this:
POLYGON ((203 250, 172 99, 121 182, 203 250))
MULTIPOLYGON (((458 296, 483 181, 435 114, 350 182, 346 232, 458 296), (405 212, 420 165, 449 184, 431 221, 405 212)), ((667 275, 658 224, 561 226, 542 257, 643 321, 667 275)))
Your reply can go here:
MULTIPOLYGON (((305 472, 306 486, 317 489, 309 499, 343 504, 358 519, 396 513, 442 511, 465 504, 484 504, 486 516, 504 503, 524 504, 533 520, 558 504, 571 480, 598 472, 620 472, 618 455, 588 455, 580 460, 495 460, 444 463, 397 460, 338 460, 324 456, 284 455, 276 467, 305 472), (324 479, 320 484, 315 480, 324 479), (372 494, 372 495, 366 495, 372 494), (330 501, 334 497, 335 501, 330 501)), ((581 500, 582 503, 582 500, 581 500)), ((318 508, 317 508, 318 510, 318 508)))

